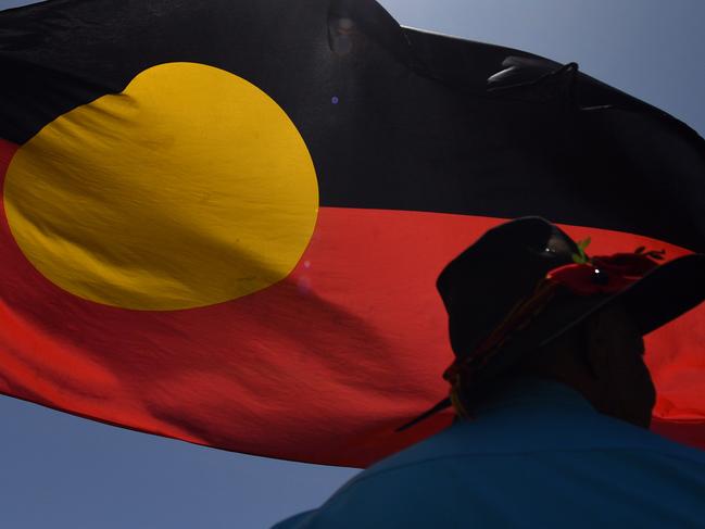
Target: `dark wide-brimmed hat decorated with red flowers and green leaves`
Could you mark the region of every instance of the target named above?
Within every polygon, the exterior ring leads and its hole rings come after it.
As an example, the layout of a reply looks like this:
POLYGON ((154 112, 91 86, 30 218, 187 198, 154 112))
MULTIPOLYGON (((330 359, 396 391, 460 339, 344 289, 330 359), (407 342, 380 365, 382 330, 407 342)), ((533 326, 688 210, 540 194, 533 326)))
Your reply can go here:
POLYGON ((621 303, 646 335, 705 300, 705 254, 664 261, 663 251, 639 248, 590 257, 589 242, 544 218, 523 217, 455 257, 437 281, 455 354, 443 375, 451 398, 400 430, 448 407, 461 389, 481 393, 524 355, 612 303, 621 303))

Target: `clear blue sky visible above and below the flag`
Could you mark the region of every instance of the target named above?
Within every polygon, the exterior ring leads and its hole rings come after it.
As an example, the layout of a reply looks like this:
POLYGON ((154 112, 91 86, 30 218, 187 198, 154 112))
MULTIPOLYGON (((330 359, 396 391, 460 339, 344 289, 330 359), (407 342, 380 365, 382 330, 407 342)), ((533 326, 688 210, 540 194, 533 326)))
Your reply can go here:
MULTIPOLYGON (((404 25, 577 61, 705 134, 702 0, 381 3, 404 25)), ((9 398, 0 423, 0 526, 13 529, 263 528, 320 504, 356 471, 205 449, 9 398)))

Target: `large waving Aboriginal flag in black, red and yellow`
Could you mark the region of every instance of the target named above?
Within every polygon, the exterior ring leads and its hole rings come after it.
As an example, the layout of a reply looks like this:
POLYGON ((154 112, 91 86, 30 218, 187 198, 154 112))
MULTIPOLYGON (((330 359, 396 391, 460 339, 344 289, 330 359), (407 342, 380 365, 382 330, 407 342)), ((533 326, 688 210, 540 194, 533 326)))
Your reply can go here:
MULTIPOLYGON (((104 423, 366 466, 449 423, 395 432, 448 391, 435 280, 486 229, 705 250, 684 124, 372 0, 51 0, 0 13, 0 392, 104 423)), ((646 354, 701 446, 703 343, 701 307, 646 354)))

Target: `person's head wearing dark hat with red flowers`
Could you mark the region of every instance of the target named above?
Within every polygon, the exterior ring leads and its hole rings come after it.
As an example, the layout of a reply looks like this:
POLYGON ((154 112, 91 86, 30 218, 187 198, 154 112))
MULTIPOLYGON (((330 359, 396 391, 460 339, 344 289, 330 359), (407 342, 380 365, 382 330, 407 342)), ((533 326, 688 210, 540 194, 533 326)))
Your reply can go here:
POLYGON ((523 217, 451 261, 437 280, 455 355, 443 373, 450 396, 399 430, 451 404, 471 415, 517 373, 568 383, 600 412, 647 427, 655 390, 642 336, 705 300, 705 254, 666 261, 640 247, 590 256, 589 243, 523 217))

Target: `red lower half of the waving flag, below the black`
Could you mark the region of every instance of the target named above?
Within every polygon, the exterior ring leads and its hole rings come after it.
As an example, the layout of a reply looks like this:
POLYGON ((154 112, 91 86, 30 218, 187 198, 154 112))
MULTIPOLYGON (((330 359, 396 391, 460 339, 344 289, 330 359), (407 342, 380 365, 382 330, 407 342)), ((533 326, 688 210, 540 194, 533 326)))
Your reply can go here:
MULTIPOLYGON (((3 149, 7 159, 13 148, 3 149)), ((146 312, 54 286, 21 253, 3 211, 0 391, 200 444, 366 466, 448 424, 445 413, 393 431, 448 391, 438 273, 501 222, 322 209, 286 280, 209 307, 146 312)), ((593 253, 642 244, 665 248, 669 259, 688 253, 630 234, 565 228, 591 236, 593 253)), ((704 431, 704 322, 701 306, 647 338, 656 414, 671 429, 677 419, 672 437, 689 442, 704 431)))

